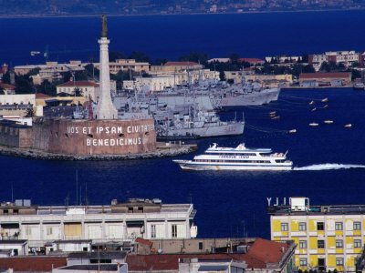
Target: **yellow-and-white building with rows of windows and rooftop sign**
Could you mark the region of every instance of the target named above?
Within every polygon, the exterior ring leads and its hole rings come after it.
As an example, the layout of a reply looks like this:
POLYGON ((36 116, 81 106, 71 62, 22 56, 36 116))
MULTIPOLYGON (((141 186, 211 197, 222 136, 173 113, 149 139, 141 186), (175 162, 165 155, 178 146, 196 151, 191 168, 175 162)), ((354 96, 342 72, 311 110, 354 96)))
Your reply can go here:
POLYGON ((356 271, 365 239, 365 205, 309 207, 307 197, 291 197, 288 206, 267 201, 271 239, 296 242, 298 268, 356 271))

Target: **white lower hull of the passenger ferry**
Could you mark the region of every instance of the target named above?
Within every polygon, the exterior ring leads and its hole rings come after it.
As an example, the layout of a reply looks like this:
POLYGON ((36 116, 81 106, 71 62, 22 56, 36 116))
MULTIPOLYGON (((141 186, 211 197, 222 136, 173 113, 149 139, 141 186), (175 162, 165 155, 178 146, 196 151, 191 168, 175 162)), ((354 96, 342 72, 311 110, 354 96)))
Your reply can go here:
POLYGON ((247 164, 208 164, 198 163, 192 160, 173 160, 179 164, 183 169, 192 170, 291 170, 292 164, 277 164, 277 165, 247 165, 247 164))

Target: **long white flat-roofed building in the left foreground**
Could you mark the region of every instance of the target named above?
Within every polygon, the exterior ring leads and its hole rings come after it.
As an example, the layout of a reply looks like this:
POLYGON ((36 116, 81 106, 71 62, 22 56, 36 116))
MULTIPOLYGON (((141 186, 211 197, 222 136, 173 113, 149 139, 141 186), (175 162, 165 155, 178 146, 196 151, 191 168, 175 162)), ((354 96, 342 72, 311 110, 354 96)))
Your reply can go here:
MULTIPOLYGON (((162 204, 160 199, 113 200, 110 206, 39 207, 29 201, 0 207, 2 239, 23 239, 29 248, 58 240, 98 242, 135 238, 194 238, 192 204, 162 204)), ((59 243, 58 243, 59 244, 59 243)))

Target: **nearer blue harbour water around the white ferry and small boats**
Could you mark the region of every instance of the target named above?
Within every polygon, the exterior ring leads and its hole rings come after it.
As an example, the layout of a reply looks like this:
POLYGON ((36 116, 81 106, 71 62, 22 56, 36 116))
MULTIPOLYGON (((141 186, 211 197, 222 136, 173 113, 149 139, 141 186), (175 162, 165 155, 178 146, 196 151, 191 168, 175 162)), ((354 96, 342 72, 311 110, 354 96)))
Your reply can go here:
POLYGON ((113 198, 160 197, 164 203, 193 202, 201 238, 270 238, 266 197, 273 198, 271 204, 276 197, 280 204, 284 197, 309 197, 312 205, 364 203, 364 105, 365 92, 349 88, 285 89, 275 103, 221 114, 242 118, 244 111, 244 136, 202 139, 199 151, 179 157, 192 158, 213 142, 224 147, 245 142, 246 147, 288 150, 292 171, 183 171, 172 158, 70 162, 0 157, 0 199, 11 200, 12 187, 14 198, 39 205, 62 205, 67 199, 84 204, 85 197, 99 205, 113 198), (328 102, 321 102, 326 97, 328 102), (309 105, 312 100, 315 105, 309 105), (272 111, 280 118, 270 119, 272 111), (318 126, 308 126, 311 122, 318 126), (290 129, 297 133, 287 134, 290 129))

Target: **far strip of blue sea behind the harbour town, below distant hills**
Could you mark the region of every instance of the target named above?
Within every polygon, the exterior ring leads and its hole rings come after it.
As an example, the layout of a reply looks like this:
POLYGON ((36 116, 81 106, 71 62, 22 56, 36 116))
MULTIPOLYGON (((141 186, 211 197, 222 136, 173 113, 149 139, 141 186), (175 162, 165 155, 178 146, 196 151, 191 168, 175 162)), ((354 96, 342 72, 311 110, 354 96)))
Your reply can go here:
MULTIPOLYGON (((109 17, 110 51, 141 51, 152 59, 176 60, 190 52, 210 57, 320 54, 365 50, 365 11, 237 15, 109 17)), ((19 66, 50 60, 99 59, 99 17, 0 18, 0 63, 19 66), (66 53, 65 53, 66 51, 66 53)))

